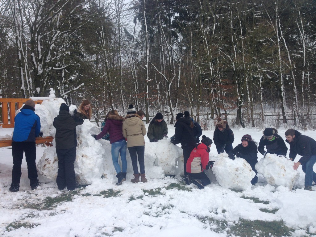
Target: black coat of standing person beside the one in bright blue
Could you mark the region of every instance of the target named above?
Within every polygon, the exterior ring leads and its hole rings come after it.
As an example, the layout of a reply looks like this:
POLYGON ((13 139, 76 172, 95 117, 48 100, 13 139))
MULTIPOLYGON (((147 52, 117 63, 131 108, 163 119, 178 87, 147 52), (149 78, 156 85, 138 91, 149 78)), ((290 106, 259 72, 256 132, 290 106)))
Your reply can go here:
POLYGON ((77 146, 76 126, 83 124, 83 119, 77 115, 70 115, 62 110, 54 119, 53 125, 56 128, 56 149, 70 149, 77 146))

